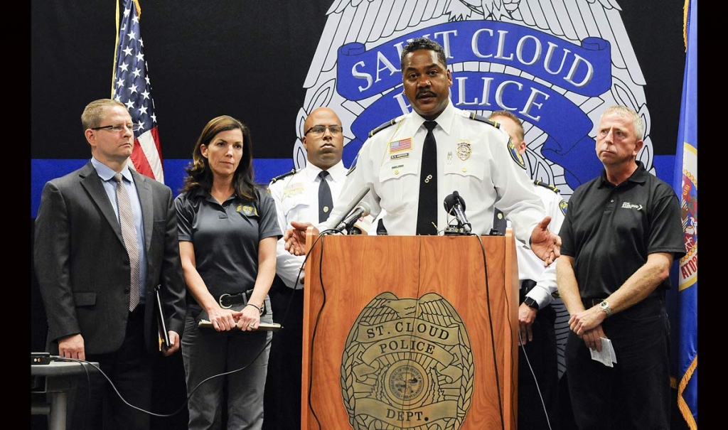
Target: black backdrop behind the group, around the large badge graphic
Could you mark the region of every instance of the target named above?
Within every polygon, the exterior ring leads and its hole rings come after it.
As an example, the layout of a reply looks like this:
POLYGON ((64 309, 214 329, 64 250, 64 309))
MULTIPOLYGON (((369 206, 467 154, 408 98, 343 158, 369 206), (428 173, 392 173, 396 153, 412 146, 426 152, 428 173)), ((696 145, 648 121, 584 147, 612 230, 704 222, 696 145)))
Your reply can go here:
MULTIPOLYGON (((229 114, 250 126, 256 158, 281 159, 280 172, 290 170, 303 83, 332 0, 140 4, 164 159, 189 159, 207 121, 229 114)), ((619 4, 646 80, 655 155, 675 154, 684 2, 619 4)), ((31 2, 31 160, 90 158, 80 116, 91 100, 111 95, 116 33, 115 0, 31 2)), ((31 214, 31 351, 42 351, 47 326, 32 268, 31 214)), ((153 418, 154 427, 186 429, 181 354, 160 357, 157 367, 154 412, 182 412, 153 418)), ((45 417, 31 415, 31 428, 46 429, 45 417)))

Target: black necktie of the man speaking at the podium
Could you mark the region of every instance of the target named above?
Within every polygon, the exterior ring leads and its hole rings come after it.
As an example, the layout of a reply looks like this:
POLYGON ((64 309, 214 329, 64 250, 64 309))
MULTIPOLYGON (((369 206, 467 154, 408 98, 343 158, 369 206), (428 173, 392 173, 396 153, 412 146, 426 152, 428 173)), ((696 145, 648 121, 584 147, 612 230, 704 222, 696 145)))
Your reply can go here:
POLYGON ((427 136, 422 146, 422 168, 419 172, 419 207, 417 234, 438 234, 438 145, 432 129, 434 121, 424 122, 427 136))

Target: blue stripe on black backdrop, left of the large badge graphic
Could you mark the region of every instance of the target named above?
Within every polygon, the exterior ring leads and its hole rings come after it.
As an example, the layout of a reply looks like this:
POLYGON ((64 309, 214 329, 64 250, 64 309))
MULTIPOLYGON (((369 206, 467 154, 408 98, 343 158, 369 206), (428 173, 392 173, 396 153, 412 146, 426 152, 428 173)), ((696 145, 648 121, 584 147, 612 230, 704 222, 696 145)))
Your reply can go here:
MULTIPOLYGON (((36 218, 41 202, 43 186, 49 180, 73 172, 86 164, 88 159, 31 159, 31 218, 36 218)), ((165 183, 176 196, 182 188, 185 167, 190 159, 165 159, 165 183)), ((254 159, 257 183, 269 183, 271 178, 293 168, 292 159, 254 159)))

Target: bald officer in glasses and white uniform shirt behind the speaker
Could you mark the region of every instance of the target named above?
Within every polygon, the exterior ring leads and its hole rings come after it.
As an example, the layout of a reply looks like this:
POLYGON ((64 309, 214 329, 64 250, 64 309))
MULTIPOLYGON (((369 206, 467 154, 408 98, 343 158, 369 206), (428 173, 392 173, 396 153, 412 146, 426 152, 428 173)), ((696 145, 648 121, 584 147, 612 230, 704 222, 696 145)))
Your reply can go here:
MULTIPOLYGON (((314 109, 306 117, 301 140, 306 148, 306 167, 273 178, 268 186, 282 231, 290 227, 291 221, 318 223, 320 217, 328 218, 347 176, 347 168, 341 162, 344 133, 336 112, 330 108, 314 109), (331 202, 320 202, 319 193, 325 192, 320 191, 321 186, 328 188, 331 202)), ((277 247, 277 276, 269 295, 274 318, 285 320, 276 319, 284 329, 276 333, 271 344, 263 428, 300 429, 304 310, 304 272, 300 269, 304 257, 286 251, 282 239, 277 247)))

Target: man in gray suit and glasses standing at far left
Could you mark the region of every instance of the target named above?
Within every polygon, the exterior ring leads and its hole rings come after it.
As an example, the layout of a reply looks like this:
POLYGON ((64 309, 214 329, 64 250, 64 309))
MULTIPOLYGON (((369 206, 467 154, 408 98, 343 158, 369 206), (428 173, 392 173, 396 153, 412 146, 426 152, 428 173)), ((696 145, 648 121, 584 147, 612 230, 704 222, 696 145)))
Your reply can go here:
MULTIPOLYGON (((126 106, 95 100, 81 122, 92 158, 45 184, 36 217, 48 348, 98 362, 127 402, 149 410, 157 285, 170 341, 162 354, 179 349, 185 316, 172 191, 130 169, 137 126, 126 106)), ((90 395, 77 394, 72 428, 149 428, 148 413, 124 405, 104 378, 92 379, 90 395)))

